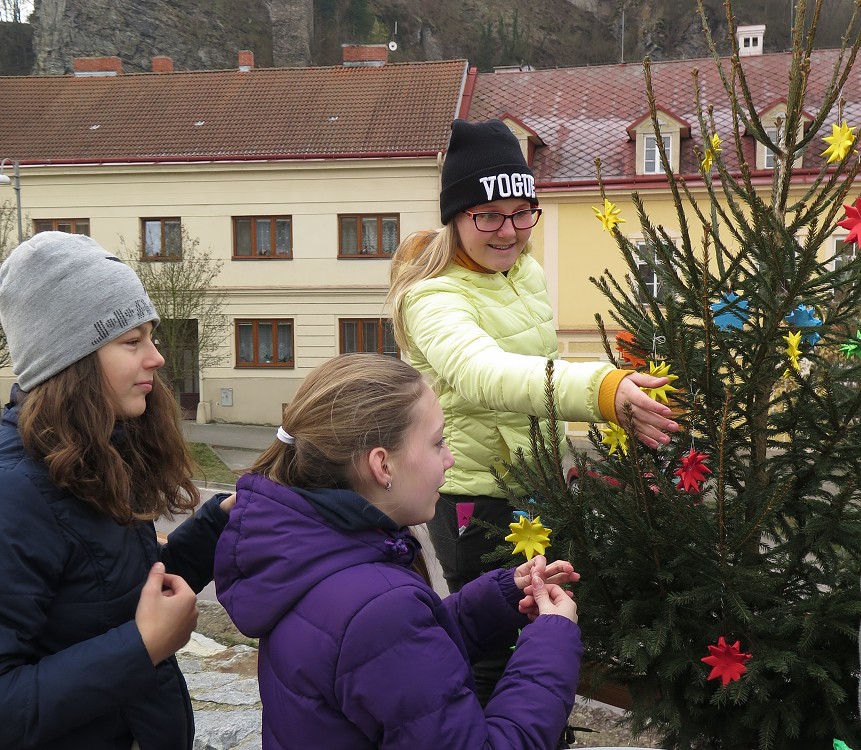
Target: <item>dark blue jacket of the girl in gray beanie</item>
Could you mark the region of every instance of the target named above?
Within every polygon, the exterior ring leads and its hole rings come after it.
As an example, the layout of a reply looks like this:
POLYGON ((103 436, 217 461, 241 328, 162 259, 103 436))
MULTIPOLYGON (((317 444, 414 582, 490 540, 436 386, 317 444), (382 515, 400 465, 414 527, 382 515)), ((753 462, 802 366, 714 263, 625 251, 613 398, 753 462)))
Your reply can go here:
POLYGON ((160 546, 59 489, 0 420, 0 749, 190 750, 176 659, 153 666, 134 622, 157 560, 200 591, 227 523, 216 495, 160 546))

